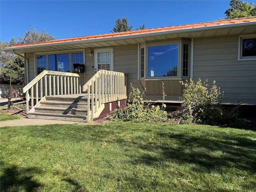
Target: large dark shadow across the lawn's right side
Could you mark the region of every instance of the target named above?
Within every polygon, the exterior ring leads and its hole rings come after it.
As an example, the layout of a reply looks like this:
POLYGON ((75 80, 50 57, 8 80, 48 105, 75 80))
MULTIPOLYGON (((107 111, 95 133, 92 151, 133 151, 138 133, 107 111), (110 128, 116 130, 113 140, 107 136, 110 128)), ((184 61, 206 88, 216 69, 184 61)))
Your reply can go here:
MULTIPOLYGON (((186 135, 157 132, 159 140, 166 142, 133 142, 118 138, 117 142, 124 145, 134 144, 145 151, 138 154, 134 164, 158 166, 159 162, 175 162, 191 164, 196 172, 211 172, 221 168, 237 168, 249 174, 256 172, 256 142, 240 136, 210 136, 186 135), (170 145, 170 141, 176 146, 170 145), (129 143, 128 143, 129 142, 129 143), (150 153, 147 153, 150 152, 150 153), (154 152, 160 156, 154 156, 154 152)), ((136 137, 134 138, 136 140, 136 137)))

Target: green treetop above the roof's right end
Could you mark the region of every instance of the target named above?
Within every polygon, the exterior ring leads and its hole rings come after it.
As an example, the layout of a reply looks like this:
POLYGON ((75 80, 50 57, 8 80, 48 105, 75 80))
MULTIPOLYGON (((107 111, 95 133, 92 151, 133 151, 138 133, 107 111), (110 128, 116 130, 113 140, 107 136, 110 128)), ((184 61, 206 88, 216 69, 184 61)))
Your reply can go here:
POLYGON ((256 16, 256 6, 253 3, 248 3, 240 0, 231 0, 231 8, 225 12, 225 19, 242 18, 256 16))

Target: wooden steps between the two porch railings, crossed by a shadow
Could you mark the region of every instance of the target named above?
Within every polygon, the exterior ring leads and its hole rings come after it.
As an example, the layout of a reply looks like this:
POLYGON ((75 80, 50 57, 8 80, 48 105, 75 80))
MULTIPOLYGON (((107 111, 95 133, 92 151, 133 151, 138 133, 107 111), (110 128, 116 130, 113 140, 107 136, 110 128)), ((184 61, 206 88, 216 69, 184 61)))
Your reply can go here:
POLYGON ((87 122, 86 94, 45 96, 28 112, 28 118, 87 122))

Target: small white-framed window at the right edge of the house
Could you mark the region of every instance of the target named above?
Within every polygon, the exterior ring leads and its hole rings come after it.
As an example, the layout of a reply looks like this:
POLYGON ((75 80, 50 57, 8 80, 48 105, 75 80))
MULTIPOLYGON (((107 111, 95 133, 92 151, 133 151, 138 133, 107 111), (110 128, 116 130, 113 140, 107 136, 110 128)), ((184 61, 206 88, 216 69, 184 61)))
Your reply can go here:
POLYGON ((256 36, 240 36, 238 60, 256 60, 256 36))

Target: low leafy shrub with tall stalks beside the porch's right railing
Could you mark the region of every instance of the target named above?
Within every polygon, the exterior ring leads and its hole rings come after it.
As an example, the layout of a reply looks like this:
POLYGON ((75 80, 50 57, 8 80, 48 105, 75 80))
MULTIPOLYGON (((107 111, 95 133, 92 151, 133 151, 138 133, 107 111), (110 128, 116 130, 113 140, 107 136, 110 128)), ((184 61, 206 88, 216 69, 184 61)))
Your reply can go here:
POLYGON ((167 112, 164 111, 166 105, 164 104, 164 98, 166 93, 163 88, 163 104, 160 106, 154 106, 151 102, 145 102, 143 100, 144 92, 140 92, 138 88, 134 88, 131 84, 132 91, 126 101, 124 109, 116 109, 109 117, 110 120, 122 120, 122 121, 151 121, 151 122, 166 122, 167 112))

